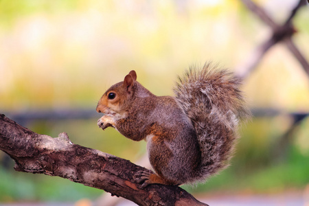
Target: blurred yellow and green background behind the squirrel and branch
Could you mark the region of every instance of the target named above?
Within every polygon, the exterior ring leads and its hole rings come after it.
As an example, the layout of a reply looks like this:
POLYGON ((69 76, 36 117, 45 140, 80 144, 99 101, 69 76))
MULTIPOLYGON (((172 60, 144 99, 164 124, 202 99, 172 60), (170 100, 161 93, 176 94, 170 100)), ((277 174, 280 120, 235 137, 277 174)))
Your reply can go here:
MULTIPOLYGON (((279 25, 298 3, 254 2, 279 25)), ((292 20, 292 38, 307 60, 308 21, 306 5, 292 20)), ((211 60, 239 73, 271 34, 242 1, 0 0, 0 113, 36 133, 66 132, 74 144, 137 162, 146 142, 130 141, 112 128, 103 132, 96 124, 95 106, 108 87, 135 69, 152 93, 173 95, 177 75, 191 65, 211 60)), ((224 196, 276 197, 272 201, 279 205, 290 197, 292 205, 308 205, 308 74, 278 43, 244 78, 242 89, 254 116, 240 128, 231 166, 185 190, 209 205, 224 196)), ((13 166, 0 151, 3 204, 78 205, 103 193, 13 166)))

